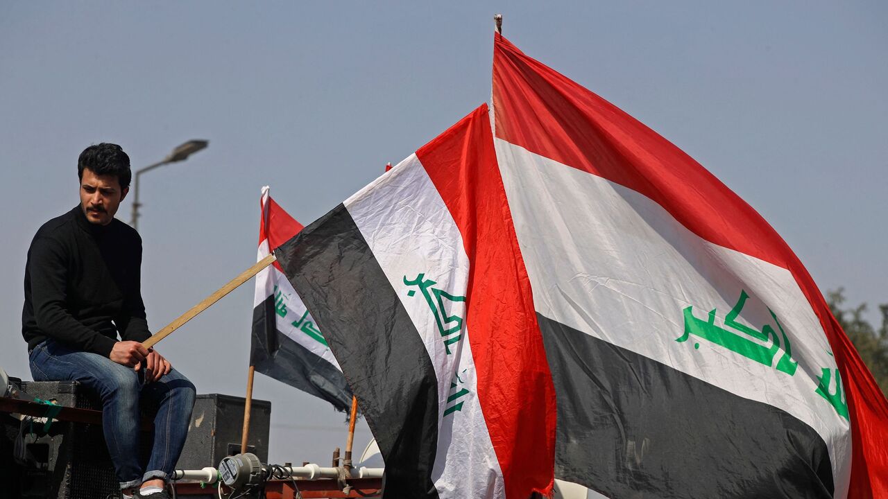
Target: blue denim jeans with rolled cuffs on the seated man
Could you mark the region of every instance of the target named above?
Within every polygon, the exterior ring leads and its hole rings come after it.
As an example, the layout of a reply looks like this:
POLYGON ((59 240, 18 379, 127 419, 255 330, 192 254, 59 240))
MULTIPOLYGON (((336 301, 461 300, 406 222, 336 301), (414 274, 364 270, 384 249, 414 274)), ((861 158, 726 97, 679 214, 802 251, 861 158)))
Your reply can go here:
POLYGON ((52 340, 37 345, 29 359, 35 381, 77 381, 99 395, 102 429, 121 488, 138 487, 149 479, 170 479, 194 408, 194 384, 185 376, 172 369, 160 380, 143 385, 132 368, 52 340), (158 407, 147 470, 139 464, 139 401, 143 397, 158 407))

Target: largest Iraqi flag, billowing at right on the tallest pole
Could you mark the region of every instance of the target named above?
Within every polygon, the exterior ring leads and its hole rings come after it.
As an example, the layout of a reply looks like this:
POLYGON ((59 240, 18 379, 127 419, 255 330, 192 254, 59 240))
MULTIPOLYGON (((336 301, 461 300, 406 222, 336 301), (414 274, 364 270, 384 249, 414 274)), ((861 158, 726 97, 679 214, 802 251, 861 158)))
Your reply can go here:
POLYGON ((888 497, 888 404, 771 226, 496 35, 496 156, 556 392, 607 497, 888 497))

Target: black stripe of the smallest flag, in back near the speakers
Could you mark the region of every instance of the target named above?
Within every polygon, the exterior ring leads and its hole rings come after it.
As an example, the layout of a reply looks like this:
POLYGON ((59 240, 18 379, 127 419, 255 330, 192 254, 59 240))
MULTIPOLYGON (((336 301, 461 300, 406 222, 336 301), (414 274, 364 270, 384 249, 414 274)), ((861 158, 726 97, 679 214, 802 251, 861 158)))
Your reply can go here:
POLYGON ((352 392, 345 377, 332 364, 277 330, 268 317, 274 313, 274 296, 253 309, 250 364, 256 371, 320 397, 341 411, 352 407, 352 392))

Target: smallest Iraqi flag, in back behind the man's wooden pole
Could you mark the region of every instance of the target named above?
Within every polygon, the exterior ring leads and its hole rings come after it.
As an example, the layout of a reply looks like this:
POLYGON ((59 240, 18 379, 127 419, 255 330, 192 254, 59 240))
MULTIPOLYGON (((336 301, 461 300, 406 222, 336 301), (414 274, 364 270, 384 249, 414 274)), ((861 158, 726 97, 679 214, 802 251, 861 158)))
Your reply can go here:
MULTIPOLYGON (((259 205, 262 215, 257 261, 303 228, 274 202, 267 186, 262 188, 259 205)), ((342 368, 276 262, 256 275, 250 365, 266 376, 329 401, 338 410, 345 411, 352 404, 352 391, 342 368)))

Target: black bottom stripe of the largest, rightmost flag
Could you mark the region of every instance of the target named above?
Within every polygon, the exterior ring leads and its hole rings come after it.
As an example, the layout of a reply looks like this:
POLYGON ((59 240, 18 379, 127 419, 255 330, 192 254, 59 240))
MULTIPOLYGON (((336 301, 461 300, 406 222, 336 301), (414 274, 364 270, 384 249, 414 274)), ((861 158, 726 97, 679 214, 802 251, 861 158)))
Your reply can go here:
POLYGON ((555 477, 608 497, 832 497, 827 446, 779 408, 537 313, 558 404, 555 477))

